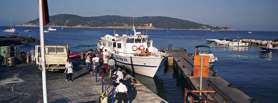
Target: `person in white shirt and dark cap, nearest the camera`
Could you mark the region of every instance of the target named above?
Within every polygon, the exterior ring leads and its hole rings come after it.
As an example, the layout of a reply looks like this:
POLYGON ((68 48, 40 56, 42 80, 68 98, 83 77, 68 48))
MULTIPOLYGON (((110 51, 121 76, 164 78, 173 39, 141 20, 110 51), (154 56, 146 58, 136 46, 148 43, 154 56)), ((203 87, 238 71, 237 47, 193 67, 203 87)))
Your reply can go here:
POLYGON ((119 97, 116 97, 116 100, 118 100, 118 103, 127 103, 128 93, 126 85, 123 85, 123 79, 119 80, 119 85, 115 89, 115 93, 119 93, 119 97))

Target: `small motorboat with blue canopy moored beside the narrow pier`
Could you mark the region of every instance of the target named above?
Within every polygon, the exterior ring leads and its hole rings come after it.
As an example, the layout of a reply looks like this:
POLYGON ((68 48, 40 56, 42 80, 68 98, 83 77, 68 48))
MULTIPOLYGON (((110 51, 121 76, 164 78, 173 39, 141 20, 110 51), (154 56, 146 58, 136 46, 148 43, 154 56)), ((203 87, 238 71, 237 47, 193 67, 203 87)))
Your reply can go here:
POLYGON ((217 57, 215 57, 214 54, 212 54, 212 51, 210 50, 209 46, 205 45, 198 45, 195 46, 195 52, 194 55, 201 55, 201 56, 210 56, 209 66, 213 66, 213 63, 217 61, 217 57))

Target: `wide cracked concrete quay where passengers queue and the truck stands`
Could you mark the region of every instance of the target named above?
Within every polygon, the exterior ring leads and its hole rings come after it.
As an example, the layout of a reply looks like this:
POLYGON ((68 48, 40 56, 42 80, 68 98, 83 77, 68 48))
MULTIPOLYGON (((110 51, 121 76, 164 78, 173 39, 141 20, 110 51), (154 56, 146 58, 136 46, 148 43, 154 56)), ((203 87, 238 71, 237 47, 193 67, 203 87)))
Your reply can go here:
MULTIPOLYGON (((47 97, 48 102, 70 102, 70 103, 98 103, 102 93, 102 81, 97 78, 95 73, 86 72, 82 69, 83 60, 71 60, 74 65, 73 82, 66 81, 64 70, 59 72, 47 72, 47 97)), ((122 70, 122 72, 124 72, 122 70)), ((111 90, 113 84, 109 78, 109 72, 100 74, 104 76, 104 84, 109 90, 108 100, 112 102, 111 90)), ((133 77, 124 74, 124 79, 131 81, 133 77)), ((166 103, 140 81, 131 82, 128 88, 128 103, 166 103)), ((0 67, 0 102, 16 103, 42 103, 42 72, 36 63, 24 63, 9 67, 0 67)), ((114 102, 117 102, 114 97, 114 102)))

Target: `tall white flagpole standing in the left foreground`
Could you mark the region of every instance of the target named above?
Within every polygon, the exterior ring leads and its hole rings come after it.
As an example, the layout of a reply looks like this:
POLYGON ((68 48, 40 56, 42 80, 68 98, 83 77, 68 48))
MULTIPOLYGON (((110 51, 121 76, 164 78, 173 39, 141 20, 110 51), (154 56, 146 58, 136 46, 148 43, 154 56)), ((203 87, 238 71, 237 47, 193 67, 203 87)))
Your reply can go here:
POLYGON ((43 15, 42 15, 42 0, 39 0, 39 18, 40 18, 40 43, 42 56, 42 90, 43 102, 47 103, 47 88, 46 88, 46 70, 45 70, 45 51, 44 51, 44 32, 43 32, 43 15))

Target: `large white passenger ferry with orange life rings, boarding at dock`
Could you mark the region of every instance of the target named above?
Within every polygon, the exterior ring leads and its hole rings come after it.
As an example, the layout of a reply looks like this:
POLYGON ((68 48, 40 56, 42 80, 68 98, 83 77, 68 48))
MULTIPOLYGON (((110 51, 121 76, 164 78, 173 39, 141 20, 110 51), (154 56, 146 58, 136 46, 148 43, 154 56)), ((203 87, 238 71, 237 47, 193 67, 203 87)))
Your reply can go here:
MULTIPOLYGON (((152 40, 149 36, 141 35, 141 32, 135 32, 134 35, 119 34, 105 35, 102 37, 102 43, 109 55, 113 54, 116 57, 117 65, 148 77, 154 77, 157 69, 169 56, 167 51, 155 48, 152 46, 152 40), (117 48, 115 51, 113 46, 117 48), (137 54, 141 49, 149 49, 149 53, 137 54)), ((101 44, 97 43, 97 49, 100 50, 101 44)))

